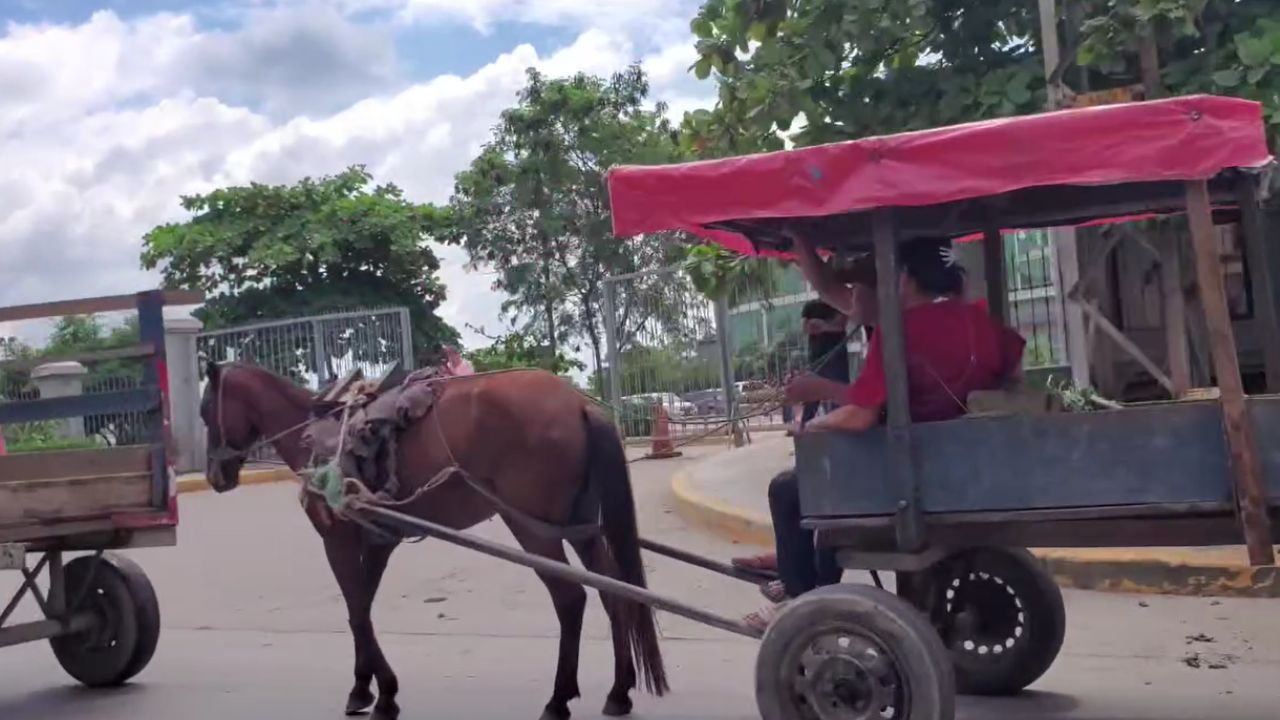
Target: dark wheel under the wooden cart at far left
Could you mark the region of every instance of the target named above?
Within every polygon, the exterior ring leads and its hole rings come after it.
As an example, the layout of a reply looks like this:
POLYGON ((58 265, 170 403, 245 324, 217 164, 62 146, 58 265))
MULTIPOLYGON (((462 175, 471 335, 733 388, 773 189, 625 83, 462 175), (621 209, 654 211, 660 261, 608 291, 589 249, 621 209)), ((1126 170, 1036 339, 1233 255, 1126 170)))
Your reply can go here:
POLYGON ((82 556, 63 570, 70 612, 97 615, 93 628, 54 638, 50 644, 63 669, 92 687, 120 685, 151 662, 160 642, 160 605, 155 588, 128 557, 82 556))

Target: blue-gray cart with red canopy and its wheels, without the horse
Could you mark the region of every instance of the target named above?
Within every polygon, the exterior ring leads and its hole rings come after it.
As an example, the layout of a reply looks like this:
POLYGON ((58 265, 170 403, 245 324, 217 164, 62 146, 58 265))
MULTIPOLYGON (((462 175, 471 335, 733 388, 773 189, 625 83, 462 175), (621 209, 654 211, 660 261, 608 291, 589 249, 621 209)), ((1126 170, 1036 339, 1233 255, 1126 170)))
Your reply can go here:
MULTIPOLYGON (((1254 564, 1274 561, 1280 397, 1244 395, 1215 231, 1244 231, 1276 388, 1280 329, 1258 204, 1271 165, 1258 105, 1181 97, 611 173, 618 234, 686 231, 785 254, 797 231, 836 254, 874 251, 887 424, 801 434, 796 461, 818 542, 845 568, 896 573, 897 594, 846 584, 790 603, 758 660, 765 720, 950 720, 957 691, 1036 682, 1061 647, 1065 612, 1024 547, 1243 538, 1254 564), (1167 373, 1148 368, 1174 391, 1170 402, 911 423, 899 242, 983 238, 987 301, 1004 318, 1002 231, 1178 214, 1189 222, 1215 400, 1188 400, 1171 352, 1167 373)), ((1183 331, 1170 325, 1169 347, 1185 350, 1183 331)))

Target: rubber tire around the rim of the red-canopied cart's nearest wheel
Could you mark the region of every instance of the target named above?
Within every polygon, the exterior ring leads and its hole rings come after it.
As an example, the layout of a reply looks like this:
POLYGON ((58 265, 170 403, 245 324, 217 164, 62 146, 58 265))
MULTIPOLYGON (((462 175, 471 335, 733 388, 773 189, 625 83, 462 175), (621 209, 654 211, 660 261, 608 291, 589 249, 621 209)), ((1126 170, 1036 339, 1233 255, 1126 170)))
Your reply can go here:
POLYGON ((896 719, 954 720, 955 675, 937 632, 906 601, 855 584, 806 593, 769 626, 755 660, 755 701, 763 720, 820 717, 797 697, 799 661, 818 638, 844 641, 845 634, 873 641, 890 657, 895 676, 905 685, 895 697, 905 698, 908 708, 896 719))

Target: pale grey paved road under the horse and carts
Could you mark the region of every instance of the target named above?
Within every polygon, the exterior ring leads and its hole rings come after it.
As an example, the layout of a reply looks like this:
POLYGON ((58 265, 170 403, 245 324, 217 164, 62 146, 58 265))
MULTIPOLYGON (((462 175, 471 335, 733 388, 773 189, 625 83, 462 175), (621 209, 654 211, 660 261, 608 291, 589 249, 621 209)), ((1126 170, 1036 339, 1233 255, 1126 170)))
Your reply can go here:
MULTIPOLYGON (((704 455, 698 448, 691 455, 704 455)), ((669 510, 667 479, 689 459, 635 465, 641 527, 717 556, 727 543, 669 510)), ((81 691, 41 644, 0 651, 0 719, 223 720, 340 717, 351 678, 346 616, 319 544, 289 486, 182 498, 178 548, 140 551, 165 618, 155 662, 118 692, 81 691)), ((486 536, 507 538, 497 524, 486 536)), ((726 614, 754 592, 662 559, 652 584, 726 614)), ((12 577, 3 577, 8 589, 12 577)), ((1069 593, 1064 656, 1024 697, 964 701, 966 720, 1274 720, 1280 716, 1280 621, 1275 601, 1139 598, 1069 593), (1203 634, 1212 642, 1192 642, 1203 634), (1201 653, 1192 669, 1184 659, 1201 653), (1212 662, 1210 662, 1212 661, 1212 662), (1225 666, 1220 670, 1210 665, 1225 666)), ((538 716, 550 688, 556 621, 525 570, 440 543, 392 560, 375 621, 397 666, 406 720, 538 716)), ((676 692, 640 698, 637 717, 749 720, 751 642, 664 616, 676 692)), ((591 603, 577 717, 599 717, 612 661, 591 603)))

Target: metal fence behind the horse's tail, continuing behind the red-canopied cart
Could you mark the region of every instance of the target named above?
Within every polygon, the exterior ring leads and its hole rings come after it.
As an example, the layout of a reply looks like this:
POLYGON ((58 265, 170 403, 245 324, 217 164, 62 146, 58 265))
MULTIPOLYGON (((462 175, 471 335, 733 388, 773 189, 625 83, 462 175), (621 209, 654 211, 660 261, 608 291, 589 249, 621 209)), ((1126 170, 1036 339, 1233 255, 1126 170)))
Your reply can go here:
MULTIPOLYGON (((1010 323, 1027 338, 1024 365, 1064 365, 1065 329, 1048 233, 1010 233, 1005 254, 1010 323)), ((959 255, 966 266, 980 263, 980 245, 959 255)), ((980 278, 980 268, 970 268, 970 274, 980 278)), ((719 313, 678 268, 609 278, 605 299, 611 352, 604 374, 627 437, 650 434, 654 405, 666 409, 677 439, 723 427, 731 406, 748 429, 792 420, 792 409, 780 406, 777 388, 792 373, 810 369, 801 309, 817 299, 794 265, 777 264, 768 278, 736 288, 719 313)), ((854 333, 846 350, 856 375, 865 336, 854 333)))

